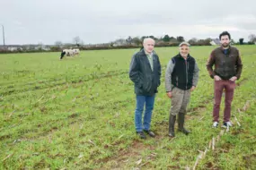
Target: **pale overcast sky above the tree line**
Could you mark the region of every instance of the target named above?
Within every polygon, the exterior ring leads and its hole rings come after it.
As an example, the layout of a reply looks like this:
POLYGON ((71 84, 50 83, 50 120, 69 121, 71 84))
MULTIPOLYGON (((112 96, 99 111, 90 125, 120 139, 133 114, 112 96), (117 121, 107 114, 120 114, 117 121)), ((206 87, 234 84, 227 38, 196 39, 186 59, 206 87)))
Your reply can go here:
MULTIPOLYGON (((256 34, 255 0, 0 0, 5 44, 110 42, 128 36, 232 38, 256 34)), ((0 28, 0 44, 2 28, 0 28)))

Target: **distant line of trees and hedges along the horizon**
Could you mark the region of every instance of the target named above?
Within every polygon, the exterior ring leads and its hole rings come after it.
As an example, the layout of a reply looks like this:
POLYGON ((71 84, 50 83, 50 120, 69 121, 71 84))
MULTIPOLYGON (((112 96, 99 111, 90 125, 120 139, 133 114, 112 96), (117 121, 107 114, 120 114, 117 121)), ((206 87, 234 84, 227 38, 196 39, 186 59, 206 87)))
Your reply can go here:
MULTIPOLYGON (((163 37, 157 38, 154 36, 142 36, 142 37, 131 37, 128 38, 118 38, 114 41, 109 43, 102 43, 102 44, 84 44, 84 41, 79 37, 76 36, 73 38, 73 43, 63 43, 57 40, 54 45, 43 45, 39 43, 38 45, 13 45, 16 48, 1 48, 0 53, 8 52, 54 52, 54 51, 61 51, 65 48, 79 48, 80 50, 100 50, 100 49, 121 49, 121 48, 137 48, 142 47, 143 39, 144 38, 153 38, 155 41, 155 47, 177 47, 181 42, 185 41, 183 36, 172 37, 169 35, 164 35, 163 37), (10 50, 11 49, 11 50, 10 50), (14 50, 13 50, 14 49, 14 50)), ((250 34, 248 36, 249 41, 244 42, 244 38, 239 38, 238 41, 234 41, 231 39, 231 44, 233 45, 255 45, 256 43, 256 35, 250 34)), ((215 45, 212 42, 219 41, 218 38, 191 38, 187 40, 191 46, 211 46, 215 45)), ((216 44, 217 45, 217 44, 216 44)))

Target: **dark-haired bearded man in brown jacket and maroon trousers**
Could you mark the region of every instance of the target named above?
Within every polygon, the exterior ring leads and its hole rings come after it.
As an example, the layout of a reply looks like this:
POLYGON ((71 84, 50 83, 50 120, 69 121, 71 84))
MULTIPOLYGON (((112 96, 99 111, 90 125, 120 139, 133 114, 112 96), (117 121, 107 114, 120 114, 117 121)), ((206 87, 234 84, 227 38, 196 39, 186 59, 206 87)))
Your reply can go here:
POLYGON ((241 76, 243 64, 237 48, 230 46, 230 34, 227 31, 219 35, 221 47, 211 52, 207 60, 207 71, 214 79, 215 103, 213 108, 213 127, 217 127, 219 107, 225 89, 225 110, 222 127, 232 126, 230 122, 231 103, 234 96, 235 81, 241 76), (215 69, 213 70, 213 65, 215 69))

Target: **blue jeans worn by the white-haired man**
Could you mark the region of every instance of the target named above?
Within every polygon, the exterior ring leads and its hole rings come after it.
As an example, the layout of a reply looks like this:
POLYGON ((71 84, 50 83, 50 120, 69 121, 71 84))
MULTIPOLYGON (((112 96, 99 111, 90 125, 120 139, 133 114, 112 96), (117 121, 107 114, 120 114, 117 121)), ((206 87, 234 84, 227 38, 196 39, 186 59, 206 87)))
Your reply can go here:
POLYGON ((142 132, 142 130, 150 129, 151 116, 154 108, 154 96, 138 96, 138 95, 136 96, 136 110, 135 110, 136 132, 142 132), (145 104, 146 104, 146 110, 145 110, 144 122, 142 126, 142 113, 143 113, 145 104))

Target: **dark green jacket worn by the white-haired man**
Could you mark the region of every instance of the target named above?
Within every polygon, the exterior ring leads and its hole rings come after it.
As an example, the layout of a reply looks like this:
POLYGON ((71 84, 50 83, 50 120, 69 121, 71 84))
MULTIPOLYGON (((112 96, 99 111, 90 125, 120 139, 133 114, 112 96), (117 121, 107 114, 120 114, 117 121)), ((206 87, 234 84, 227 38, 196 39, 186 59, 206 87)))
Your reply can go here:
POLYGON ((153 96, 157 93, 157 87, 160 86, 161 65, 154 51, 153 65, 152 71, 144 49, 133 55, 129 67, 129 78, 134 82, 137 95, 153 96))

